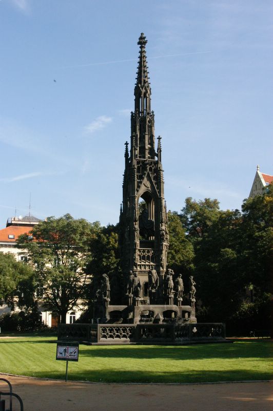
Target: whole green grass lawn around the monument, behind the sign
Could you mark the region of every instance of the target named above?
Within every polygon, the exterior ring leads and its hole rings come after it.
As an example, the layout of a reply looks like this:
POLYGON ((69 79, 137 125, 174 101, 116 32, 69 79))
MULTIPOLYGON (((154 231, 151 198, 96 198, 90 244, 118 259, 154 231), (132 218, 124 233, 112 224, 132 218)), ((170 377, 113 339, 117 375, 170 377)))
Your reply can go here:
MULTIPOLYGON (((56 337, 1 339, 0 372, 64 379, 56 337)), ((80 345, 68 379, 93 382, 192 383, 271 378, 269 341, 184 346, 80 345)))

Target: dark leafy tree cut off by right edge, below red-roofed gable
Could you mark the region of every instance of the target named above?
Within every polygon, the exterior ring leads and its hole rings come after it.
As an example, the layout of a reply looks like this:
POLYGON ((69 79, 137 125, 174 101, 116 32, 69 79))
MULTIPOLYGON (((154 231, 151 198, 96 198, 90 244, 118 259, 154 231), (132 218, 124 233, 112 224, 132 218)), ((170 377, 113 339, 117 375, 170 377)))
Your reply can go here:
POLYGON ((256 328, 269 328, 272 309, 273 185, 242 206, 242 270, 248 298, 238 311, 256 328), (271 309, 270 309, 271 308, 271 309))

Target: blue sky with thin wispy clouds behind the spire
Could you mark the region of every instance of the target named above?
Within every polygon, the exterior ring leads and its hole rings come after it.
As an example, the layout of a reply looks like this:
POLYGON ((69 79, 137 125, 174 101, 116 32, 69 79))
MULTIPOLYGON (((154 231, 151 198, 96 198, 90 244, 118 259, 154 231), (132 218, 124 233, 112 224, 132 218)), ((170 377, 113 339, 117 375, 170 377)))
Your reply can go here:
POLYGON ((116 223, 140 33, 165 198, 241 207, 273 174, 267 0, 0 0, 0 227, 70 213, 116 223))

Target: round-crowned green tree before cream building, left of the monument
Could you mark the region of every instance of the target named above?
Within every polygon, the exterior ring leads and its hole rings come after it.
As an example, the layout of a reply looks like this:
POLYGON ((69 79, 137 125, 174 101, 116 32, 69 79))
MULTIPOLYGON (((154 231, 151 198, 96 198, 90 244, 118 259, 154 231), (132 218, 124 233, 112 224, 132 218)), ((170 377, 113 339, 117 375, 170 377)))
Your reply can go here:
POLYGON ((36 283, 43 289, 43 305, 59 313, 62 323, 67 312, 81 303, 90 280, 85 269, 91 258, 92 228, 86 220, 65 214, 48 217, 33 227, 31 236, 24 234, 17 241, 27 251, 36 283))

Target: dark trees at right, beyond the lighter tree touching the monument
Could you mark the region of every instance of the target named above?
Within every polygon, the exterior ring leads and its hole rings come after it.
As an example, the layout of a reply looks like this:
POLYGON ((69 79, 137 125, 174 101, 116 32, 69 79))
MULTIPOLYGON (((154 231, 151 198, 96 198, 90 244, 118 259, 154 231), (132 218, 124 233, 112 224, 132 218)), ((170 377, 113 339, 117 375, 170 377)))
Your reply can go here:
POLYGON ((194 247, 199 321, 223 321, 227 332, 269 329, 272 188, 239 210, 217 200, 186 199, 180 215, 194 247))

